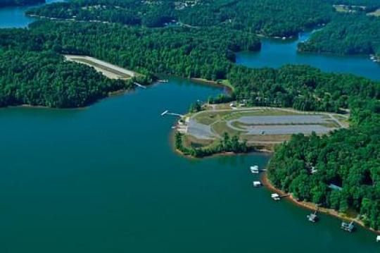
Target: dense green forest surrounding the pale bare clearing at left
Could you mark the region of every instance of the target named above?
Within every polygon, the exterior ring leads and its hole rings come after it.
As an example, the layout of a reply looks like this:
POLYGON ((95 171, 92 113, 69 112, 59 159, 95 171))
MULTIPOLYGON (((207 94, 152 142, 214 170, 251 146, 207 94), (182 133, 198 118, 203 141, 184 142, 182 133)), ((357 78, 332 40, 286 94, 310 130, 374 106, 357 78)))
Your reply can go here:
POLYGON ((222 28, 153 30, 40 21, 30 29, 4 29, 0 30, 0 106, 84 106, 108 92, 132 87, 132 81, 107 80, 88 66, 65 62, 61 54, 94 56, 137 70, 145 77, 139 82, 147 83, 153 73, 226 78, 235 51, 258 48, 254 35, 222 28))

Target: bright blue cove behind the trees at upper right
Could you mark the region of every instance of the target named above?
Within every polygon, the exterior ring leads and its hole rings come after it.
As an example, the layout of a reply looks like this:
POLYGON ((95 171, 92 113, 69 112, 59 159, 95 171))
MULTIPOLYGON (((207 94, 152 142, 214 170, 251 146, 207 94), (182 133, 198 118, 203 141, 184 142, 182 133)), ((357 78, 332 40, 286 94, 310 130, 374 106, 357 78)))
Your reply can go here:
POLYGON ((297 44, 307 40, 311 32, 300 33, 298 39, 261 39, 258 52, 241 52, 236 55, 236 63, 250 68, 279 68, 286 64, 306 64, 326 72, 351 73, 373 80, 380 80, 380 64, 369 56, 335 56, 297 52, 297 44))

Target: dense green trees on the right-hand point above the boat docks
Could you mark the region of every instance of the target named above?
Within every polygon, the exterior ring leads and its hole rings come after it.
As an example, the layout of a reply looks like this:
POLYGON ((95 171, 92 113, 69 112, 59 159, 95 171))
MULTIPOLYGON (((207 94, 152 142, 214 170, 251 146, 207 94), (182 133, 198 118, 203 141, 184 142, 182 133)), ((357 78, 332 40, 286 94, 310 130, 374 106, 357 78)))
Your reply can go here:
POLYGON ((366 226, 380 229, 380 105, 354 111, 349 129, 319 137, 293 135, 268 166, 275 187, 300 201, 341 212, 356 211, 366 226), (329 185, 342 190, 333 190, 329 185))

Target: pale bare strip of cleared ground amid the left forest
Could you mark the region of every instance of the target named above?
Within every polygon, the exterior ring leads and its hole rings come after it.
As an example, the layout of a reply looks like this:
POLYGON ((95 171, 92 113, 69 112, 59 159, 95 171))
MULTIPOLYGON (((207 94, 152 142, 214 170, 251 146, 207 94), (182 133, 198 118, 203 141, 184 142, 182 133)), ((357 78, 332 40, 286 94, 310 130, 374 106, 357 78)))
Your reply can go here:
POLYGON ((65 55, 67 61, 75 61, 77 63, 82 63, 87 66, 95 68, 96 71, 101 72, 107 78, 110 79, 129 79, 137 75, 132 70, 127 70, 125 68, 120 68, 106 61, 101 61, 97 58, 90 56, 76 56, 76 55, 65 55))

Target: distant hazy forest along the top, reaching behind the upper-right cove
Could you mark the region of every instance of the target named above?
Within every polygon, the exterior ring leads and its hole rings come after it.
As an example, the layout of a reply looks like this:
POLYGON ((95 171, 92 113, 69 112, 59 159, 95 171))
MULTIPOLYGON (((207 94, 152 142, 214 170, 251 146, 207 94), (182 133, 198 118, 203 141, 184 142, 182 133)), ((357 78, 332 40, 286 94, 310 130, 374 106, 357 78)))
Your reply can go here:
POLYGON ((265 37, 297 37, 298 32, 327 24, 308 42, 300 43, 298 50, 379 55, 380 19, 366 16, 379 6, 379 0, 71 0, 32 8, 27 14, 144 27, 223 27, 265 37), (365 8, 339 13, 333 4, 365 8))

